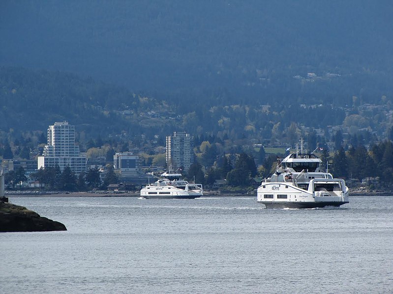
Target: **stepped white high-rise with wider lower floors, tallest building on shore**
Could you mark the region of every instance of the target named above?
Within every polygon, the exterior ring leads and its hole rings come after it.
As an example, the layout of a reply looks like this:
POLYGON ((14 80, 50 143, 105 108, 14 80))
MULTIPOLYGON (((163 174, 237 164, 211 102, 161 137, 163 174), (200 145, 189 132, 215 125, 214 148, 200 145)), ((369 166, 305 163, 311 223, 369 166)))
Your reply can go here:
POLYGON ((81 155, 79 146, 75 145, 75 126, 65 121, 49 126, 48 145, 45 145, 43 155, 38 157, 38 169, 57 165, 61 171, 69 166, 77 175, 86 172, 86 156, 81 155))

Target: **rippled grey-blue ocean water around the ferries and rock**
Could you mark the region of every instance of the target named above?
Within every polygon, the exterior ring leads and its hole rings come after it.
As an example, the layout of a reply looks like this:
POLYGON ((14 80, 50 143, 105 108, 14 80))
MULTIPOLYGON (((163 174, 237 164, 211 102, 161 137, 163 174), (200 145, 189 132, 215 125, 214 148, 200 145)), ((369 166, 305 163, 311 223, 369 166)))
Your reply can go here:
POLYGON ((0 234, 0 293, 393 293, 393 196, 10 198, 66 232, 0 234))

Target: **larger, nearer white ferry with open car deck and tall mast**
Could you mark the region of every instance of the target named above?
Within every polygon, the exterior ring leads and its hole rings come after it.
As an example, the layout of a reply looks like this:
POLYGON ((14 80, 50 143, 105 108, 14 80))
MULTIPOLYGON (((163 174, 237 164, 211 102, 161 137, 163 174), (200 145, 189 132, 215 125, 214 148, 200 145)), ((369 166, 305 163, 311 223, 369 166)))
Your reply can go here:
MULTIPOLYGON (((314 150, 315 151, 315 150, 314 150)), ((349 203, 349 189, 320 168, 322 160, 313 153, 296 152, 280 160, 275 173, 262 181, 257 201, 266 208, 320 208, 349 203)))

